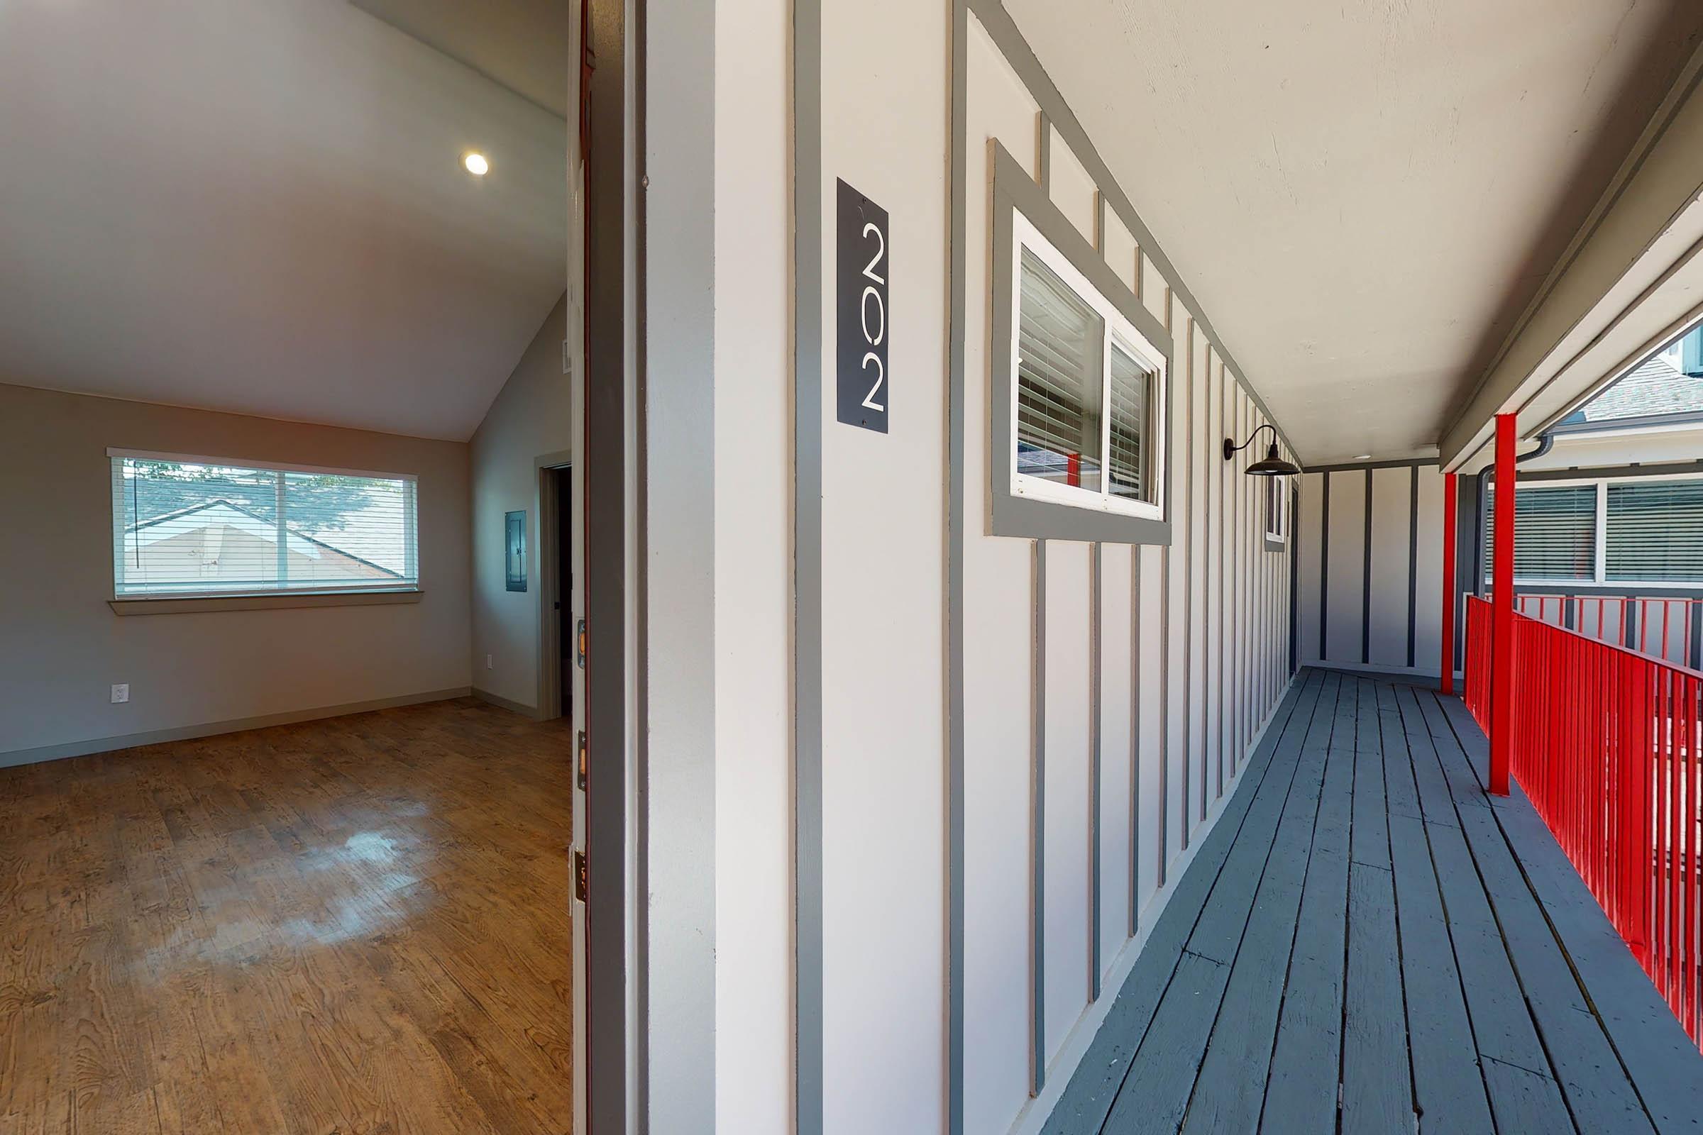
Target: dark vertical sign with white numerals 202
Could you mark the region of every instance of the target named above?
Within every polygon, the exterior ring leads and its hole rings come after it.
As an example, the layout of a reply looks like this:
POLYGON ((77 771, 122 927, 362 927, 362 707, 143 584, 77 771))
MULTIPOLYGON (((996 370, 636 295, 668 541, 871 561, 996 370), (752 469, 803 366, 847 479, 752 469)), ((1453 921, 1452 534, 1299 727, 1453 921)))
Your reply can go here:
POLYGON ((840 420, 887 432, 887 211, 840 182, 834 311, 840 420))

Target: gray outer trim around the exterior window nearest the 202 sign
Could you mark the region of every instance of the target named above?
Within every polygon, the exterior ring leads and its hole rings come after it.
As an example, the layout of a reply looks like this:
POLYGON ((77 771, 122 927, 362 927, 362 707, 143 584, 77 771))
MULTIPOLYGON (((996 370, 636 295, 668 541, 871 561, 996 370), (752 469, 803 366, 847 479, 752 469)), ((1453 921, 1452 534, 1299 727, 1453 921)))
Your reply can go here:
MULTIPOLYGON (((993 294, 1010 296, 1015 286, 1012 264, 1012 214, 1022 213, 1069 264, 1088 277, 1100 294, 1165 356, 1167 374, 1165 407, 1158 436, 1170 436, 1175 386, 1175 351, 1165 325, 1153 318, 1134 291, 1117 277, 1105 259, 1093 250, 1076 226, 1047 199, 1024 165, 998 141, 993 145, 993 294)), ((995 536, 1022 536, 1029 539, 1080 539, 1109 545, 1168 545, 1172 543, 1172 466, 1175 454, 1165 454, 1160 504, 1163 521, 1117 516, 1080 509, 1052 500, 1034 500, 1012 492, 1012 383, 1010 352, 1001 347, 1012 340, 1012 305, 993 305, 993 334, 989 339, 989 408, 991 432, 988 441, 988 499, 989 531, 995 536)))

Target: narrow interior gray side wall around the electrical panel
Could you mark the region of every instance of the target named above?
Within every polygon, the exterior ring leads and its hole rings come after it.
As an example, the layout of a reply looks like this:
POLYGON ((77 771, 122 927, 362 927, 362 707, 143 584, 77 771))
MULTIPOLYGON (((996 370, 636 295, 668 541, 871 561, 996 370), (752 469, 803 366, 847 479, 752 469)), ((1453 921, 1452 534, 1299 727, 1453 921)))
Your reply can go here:
MULTIPOLYGON (((538 466, 572 448, 569 376, 562 374, 567 299, 545 317, 470 446, 473 497, 473 687, 518 706, 538 704, 538 466), (507 590, 502 516, 526 510, 526 590, 507 590), (490 655, 490 667, 485 667, 490 655)), ((579 490, 574 490, 577 499, 579 490)))

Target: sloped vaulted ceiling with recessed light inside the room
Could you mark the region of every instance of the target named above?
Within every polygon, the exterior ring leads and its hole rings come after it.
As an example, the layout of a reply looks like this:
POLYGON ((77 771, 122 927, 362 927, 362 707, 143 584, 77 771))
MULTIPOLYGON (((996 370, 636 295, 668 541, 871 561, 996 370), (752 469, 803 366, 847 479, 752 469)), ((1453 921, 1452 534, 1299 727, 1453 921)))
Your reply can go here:
POLYGON ((0 383, 477 429, 565 281, 571 5, 366 7, 0 3, 0 383))

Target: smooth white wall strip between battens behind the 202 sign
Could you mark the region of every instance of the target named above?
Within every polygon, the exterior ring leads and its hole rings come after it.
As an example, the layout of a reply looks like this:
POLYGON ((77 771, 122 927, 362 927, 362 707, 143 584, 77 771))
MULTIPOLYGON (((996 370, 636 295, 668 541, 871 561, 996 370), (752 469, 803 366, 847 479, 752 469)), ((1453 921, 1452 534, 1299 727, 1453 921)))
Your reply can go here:
POLYGON ((826 1135, 943 1126, 949 36, 943 9, 823 5, 826 1135), (891 214, 887 434, 834 420, 840 177, 891 214))

